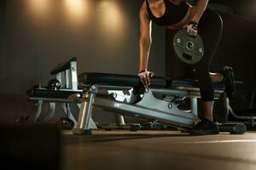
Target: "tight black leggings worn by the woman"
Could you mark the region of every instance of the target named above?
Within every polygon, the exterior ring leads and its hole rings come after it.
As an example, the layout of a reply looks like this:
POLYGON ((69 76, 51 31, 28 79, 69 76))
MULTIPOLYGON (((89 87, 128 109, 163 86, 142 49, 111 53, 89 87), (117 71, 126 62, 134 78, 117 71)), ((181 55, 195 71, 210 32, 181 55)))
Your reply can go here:
POLYGON ((212 79, 209 75, 212 58, 218 48, 222 36, 223 23, 219 14, 207 9, 201 17, 198 32, 204 42, 204 56, 193 67, 198 80, 202 101, 213 101, 214 92, 212 79))

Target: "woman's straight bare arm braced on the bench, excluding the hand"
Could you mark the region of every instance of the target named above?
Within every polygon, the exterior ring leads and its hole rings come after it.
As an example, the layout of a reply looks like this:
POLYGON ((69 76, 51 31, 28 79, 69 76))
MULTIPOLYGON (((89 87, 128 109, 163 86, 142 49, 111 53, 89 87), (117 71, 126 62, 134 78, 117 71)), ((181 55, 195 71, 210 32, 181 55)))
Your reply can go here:
POLYGON ((151 21, 148 19, 146 3, 140 9, 139 71, 148 69, 148 55, 151 46, 151 21))

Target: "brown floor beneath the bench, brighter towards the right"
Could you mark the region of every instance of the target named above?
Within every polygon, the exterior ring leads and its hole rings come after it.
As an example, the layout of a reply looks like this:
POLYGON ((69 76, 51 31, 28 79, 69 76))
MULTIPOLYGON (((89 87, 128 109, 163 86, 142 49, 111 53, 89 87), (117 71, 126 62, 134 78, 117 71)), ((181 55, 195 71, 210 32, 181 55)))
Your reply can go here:
POLYGON ((191 136, 178 131, 64 132, 63 170, 255 170, 256 132, 191 136))

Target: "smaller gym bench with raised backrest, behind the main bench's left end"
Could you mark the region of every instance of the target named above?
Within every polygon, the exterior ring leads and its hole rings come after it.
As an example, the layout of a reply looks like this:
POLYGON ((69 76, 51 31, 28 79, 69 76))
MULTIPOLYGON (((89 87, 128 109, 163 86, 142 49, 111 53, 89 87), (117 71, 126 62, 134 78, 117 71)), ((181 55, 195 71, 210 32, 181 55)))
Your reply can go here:
MULTIPOLYGON (((42 87, 39 84, 26 92, 27 99, 35 102, 32 121, 51 121, 55 115, 56 104, 60 104, 62 111, 67 118, 74 122, 75 127, 77 120, 71 111, 71 102, 68 97, 82 92, 82 89, 78 89, 76 58, 61 63, 53 71, 50 71, 50 74, 54 75, 55 79, 51 79, 47 87, 42 87), (46 110, 45 114, 42 113, 43 110, 46 110)), ((79 107, 79 105, 77 106, 79 107)))

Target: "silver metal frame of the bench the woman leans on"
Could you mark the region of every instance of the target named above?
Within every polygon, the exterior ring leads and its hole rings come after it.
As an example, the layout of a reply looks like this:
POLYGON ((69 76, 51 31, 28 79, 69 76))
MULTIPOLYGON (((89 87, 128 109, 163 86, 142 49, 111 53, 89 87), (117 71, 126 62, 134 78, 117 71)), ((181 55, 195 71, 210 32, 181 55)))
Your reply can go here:
MULTIPOLYGON (((119 113, 120 115, 138 116, 148 119, 156 119, 159 122, 166 122, 174 127, 193 127, 198 120, 197 99, 200 98, 199 88, 146 88, 141 94, 142 99, 132 103, 135 96, 132 87, 93 85, 84 88, 84 95, 77 98, 81 102, 77 128, 73 129, 74 134, 91 134, 90 119, 94 107, 119 113), (125 91, 125 93, 124 93, 125 91), (129 92, 127 94, 127 92, 129 92), (166 99, 157 99, 154 95, 164 94, 166 99), (189 97, 191 99, 191 111, 178 109, 175 101, 176 95, 189 97)), ((215 99, 223 93, 215 91, 215 99)), ((125 123, 122 116, 120 124, 125 123)))

